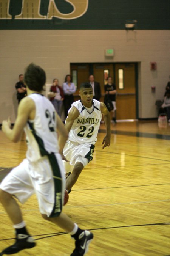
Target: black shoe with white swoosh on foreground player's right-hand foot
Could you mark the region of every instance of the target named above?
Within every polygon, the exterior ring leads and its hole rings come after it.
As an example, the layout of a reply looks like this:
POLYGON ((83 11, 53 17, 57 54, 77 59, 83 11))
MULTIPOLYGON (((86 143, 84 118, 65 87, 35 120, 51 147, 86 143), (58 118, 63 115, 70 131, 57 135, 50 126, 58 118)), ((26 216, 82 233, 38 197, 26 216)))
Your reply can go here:
POLYGON ((84 230, 79 235, 79 240, 75 242, 75 249, 70 256, 83 256, 88 252, 88 246, 93 240, 93 234, 87 230, 84 230))

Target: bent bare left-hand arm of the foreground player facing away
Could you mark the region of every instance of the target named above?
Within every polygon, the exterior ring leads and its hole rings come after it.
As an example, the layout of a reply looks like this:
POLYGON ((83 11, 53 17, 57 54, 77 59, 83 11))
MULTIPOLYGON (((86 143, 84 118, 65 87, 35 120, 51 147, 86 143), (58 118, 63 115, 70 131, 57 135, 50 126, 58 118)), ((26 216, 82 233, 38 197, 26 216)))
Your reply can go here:
MULTIPOLYGON (((21 135, 23 133, 23 129, 26 125, 26 122, 30 118, 30 115, 35 115, 34 111, 34 101, 29 97, 25 97, 24 99, 22 99, 22 101, 20 101, 14 128, 11 129, 11 121, 9 118, 8 120, 2 121, 2 131, 5 133, 6 137, 9 140, 15 143, 20 140, 21 135)), ((34 116, 32 119, 34 119, 34 116)))

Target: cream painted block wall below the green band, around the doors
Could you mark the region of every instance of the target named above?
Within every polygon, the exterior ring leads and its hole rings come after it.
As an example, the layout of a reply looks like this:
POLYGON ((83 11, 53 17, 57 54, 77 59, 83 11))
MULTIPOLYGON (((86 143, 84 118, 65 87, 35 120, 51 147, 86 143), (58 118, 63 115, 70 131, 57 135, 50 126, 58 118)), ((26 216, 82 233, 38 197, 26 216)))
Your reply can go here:
POLYGON ((0 123, 15 121, 15 83, 31 62, 46 71, 47 84, 57 77, 62 85, 70 63, 139 62, 139 117, 157 116, 155 101, 163 99, 170 75, 168 30, 0 30, 0 123), (104 57, 114 48, 113 60, 104 57), (156 61, 157 71, 150 70, 156 61), (156 92, 151 92, 151 85, 156 92))

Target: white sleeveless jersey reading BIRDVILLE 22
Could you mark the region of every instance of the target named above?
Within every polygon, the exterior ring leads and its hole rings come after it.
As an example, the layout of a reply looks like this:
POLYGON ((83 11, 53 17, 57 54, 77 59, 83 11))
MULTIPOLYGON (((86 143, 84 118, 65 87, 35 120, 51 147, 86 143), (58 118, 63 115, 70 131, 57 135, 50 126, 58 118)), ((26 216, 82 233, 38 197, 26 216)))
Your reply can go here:
POLYGON ((92 113, 88 113, 81 100, 73 102, 71 105, 71 108, 76 107, 79 110, 80 115, 74 120, 68 140, 79 144, 96 143, 102 113, 100 110, 100 102, 95 99, 93 99, 92 102, 94 106, 92 113))

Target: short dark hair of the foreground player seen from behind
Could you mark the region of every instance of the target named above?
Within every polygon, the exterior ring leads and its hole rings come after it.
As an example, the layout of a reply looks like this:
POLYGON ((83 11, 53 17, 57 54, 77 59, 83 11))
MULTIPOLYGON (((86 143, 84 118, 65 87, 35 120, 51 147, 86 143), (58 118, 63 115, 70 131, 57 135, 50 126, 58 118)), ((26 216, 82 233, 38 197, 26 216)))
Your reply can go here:
POLYGON ((30 90, 43 91, 43 86, 46 82, 45 71, 40 66, 31 63, 26 68, 24 81, 30 90))

